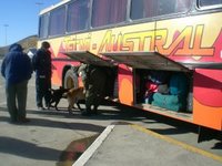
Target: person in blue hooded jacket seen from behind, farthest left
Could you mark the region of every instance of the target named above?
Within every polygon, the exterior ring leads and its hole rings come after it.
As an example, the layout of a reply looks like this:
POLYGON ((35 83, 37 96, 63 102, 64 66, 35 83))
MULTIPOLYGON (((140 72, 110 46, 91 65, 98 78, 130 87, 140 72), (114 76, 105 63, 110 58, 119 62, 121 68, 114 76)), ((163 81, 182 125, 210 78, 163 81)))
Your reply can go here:
POLYGON ((6 79, 7 106, 11 122, 29 122, 26 112, 27 86, 31 79, 32 66, 20 44, 16 43, 9 48, 9 53, 6 54, 1 65, 1 74, 6 79))

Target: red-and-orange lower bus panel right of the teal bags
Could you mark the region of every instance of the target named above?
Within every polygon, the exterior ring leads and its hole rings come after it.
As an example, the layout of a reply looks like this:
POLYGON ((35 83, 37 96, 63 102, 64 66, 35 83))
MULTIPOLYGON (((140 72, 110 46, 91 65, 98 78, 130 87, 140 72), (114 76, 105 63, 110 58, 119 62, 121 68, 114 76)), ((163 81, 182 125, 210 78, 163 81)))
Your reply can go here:
POLYGON ((194 123, 222 131, 222 71, 195 70, 193 85, 194 123))

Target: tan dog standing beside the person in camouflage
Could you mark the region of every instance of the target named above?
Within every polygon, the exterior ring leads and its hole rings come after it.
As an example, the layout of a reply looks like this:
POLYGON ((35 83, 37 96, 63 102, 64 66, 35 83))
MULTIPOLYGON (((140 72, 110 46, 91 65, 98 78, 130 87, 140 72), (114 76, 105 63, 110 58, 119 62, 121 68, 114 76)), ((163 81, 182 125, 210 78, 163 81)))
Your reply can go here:
POLYGON ((68 101, 68 111, 72 114, 72 107, 77 104, 78 108, 82 111, 80 107, 80 102, 85 101, 85 92, 84 87, 72 87, 68 92, 63 93, 63 97, 67 97, 68 101))

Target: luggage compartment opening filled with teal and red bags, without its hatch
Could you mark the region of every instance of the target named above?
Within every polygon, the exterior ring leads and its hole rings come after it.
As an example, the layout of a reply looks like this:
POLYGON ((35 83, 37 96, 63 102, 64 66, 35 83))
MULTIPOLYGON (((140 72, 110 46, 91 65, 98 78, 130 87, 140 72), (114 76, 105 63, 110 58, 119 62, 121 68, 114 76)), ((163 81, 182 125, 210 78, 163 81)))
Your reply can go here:
POLYGON ((192 73, 134 70, 137 106, 191 118, 192 73))

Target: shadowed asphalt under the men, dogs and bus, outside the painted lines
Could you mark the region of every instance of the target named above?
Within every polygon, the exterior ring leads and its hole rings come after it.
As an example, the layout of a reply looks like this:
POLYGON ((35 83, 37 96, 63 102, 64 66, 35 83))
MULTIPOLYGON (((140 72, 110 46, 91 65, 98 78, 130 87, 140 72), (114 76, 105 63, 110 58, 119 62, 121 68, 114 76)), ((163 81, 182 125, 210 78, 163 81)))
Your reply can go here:
MULTIPOLYGON (((78 110, 73 111, 73 115, 69 115, 65 100, 60 102, 60 111, 54 108, 38 111, 34 75, 29 82, 27 103, 28 117, 31 122, 10 124, 2 76, 0 76, 0 89, 1 166, 72 165, 107 126, 120 122, 140 125, 154 133, 222 156, 220 139, 198 144, 196 126, 110 102, 103 103, 99 107, 99 115, 89 117, 82 116, 78 110)), ((113 165, 115 165, 114 160, 113 165)))

